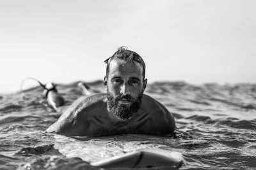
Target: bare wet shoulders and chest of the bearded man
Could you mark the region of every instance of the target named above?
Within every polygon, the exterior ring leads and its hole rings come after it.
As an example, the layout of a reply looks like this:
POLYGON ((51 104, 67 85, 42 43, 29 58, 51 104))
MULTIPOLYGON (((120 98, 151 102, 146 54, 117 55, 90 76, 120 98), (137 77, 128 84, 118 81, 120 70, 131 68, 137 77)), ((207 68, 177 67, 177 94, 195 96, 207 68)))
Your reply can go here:
POLYGON ((118 120, 107 109, 106 94, 81 97, 47 129, 66 136, 104 136, 111 134, 172 134, 175 120, 161 103, 143 94, 137 114, 118 120))

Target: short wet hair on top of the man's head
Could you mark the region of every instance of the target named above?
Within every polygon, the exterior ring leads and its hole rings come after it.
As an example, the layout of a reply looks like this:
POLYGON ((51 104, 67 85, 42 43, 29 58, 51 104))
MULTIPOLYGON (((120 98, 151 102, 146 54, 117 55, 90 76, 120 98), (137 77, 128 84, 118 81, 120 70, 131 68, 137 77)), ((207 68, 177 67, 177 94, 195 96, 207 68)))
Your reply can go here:
POLYGON ((106 59, 104 62, 107 64, 106 67, 106 76, 108 77, 109 73, 109 64, 112 60, 115 59, 121 59, 121 60, 128 60, 132 62, 138 62, 140 66, 143 68, 143 79, 145 78, 145 71, 146 71, 146 66, 144 60, 138 55, 136 52, 132 52, 131 50, 127 50, 126 46, 121 46, 118 48, 118 50, 108 59, 106 59))

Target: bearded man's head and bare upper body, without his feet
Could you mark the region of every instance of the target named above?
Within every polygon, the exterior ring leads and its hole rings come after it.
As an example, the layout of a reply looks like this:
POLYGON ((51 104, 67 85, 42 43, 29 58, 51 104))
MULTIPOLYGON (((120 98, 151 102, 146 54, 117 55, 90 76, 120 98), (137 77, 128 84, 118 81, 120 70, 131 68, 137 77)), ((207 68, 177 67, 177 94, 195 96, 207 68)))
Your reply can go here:
POLYGON ((172 134, 172 113, 143 94, 147 79, 140 55, 120 47, 105 62, 107 94, 80 97, 47 131, 66 136, 172 134))

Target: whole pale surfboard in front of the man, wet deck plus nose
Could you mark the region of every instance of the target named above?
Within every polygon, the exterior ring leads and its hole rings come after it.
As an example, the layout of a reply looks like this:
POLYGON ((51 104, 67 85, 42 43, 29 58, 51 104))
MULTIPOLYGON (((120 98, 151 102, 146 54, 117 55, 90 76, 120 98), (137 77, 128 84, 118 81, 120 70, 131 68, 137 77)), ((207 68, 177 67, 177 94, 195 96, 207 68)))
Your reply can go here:
POLYGON ((179 169, 184 159, 164 143, 174 139, 143 134, 83 137, 54 134, 54 149, 65 157, 79 157, 99 169, 179 169), (161 143, 157 143, 157 141, 161 143), (169 150, 162 149, 169 148, 169 150))

